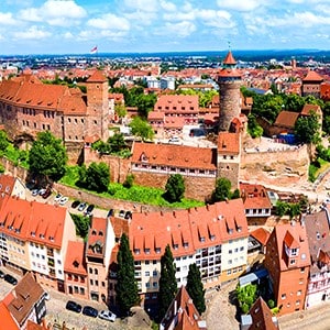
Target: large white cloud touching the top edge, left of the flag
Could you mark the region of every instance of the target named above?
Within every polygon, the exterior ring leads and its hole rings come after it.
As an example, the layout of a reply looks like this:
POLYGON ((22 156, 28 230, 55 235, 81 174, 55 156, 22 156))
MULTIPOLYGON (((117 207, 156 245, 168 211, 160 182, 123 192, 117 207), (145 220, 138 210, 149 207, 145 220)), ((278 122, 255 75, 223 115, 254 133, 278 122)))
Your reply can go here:
POLYGON ((87 15, 86 10, 74 0, 47 0, 40 8, 28 8, 19 12, 22 20, 46 22, 51 25, 73 25, 87 15))

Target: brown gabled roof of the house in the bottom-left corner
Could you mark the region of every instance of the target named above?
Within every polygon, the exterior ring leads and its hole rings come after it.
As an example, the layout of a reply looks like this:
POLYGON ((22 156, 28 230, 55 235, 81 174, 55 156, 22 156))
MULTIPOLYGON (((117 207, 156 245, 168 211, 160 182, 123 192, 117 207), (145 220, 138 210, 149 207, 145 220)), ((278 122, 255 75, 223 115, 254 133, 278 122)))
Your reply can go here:
POLYGON ((34 306, 41 300, 43 294, 44 289, 30 272, 12 289, 12 299, 7 307, 20 326, 24 323, 30 314, 35 312, 34 306))

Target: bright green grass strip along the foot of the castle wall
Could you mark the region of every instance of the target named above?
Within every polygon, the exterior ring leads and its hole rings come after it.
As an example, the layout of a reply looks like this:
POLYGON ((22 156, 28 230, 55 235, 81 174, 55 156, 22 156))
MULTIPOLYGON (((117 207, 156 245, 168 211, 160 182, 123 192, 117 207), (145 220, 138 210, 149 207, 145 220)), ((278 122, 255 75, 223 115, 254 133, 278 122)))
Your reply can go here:
MULTIPOLYGON (((76 187, 76 182, 79 178, 79 167, 78 166, 68 166, 66 169, 66 175, 59 180, 59 183, 76 187)), ((81 189, 81 188, 79 188, 81 189)), ((180 202, 168 202, 163 198, 165 193, 163 189, 152 188, 152 187, 142 187, 133 185, 131 188, 124 188, 121 184, 111 183, 108 187, 107 193, 97 194, 95 191, 89 191, 101 197, 108 197, 112 199, 122 199, 131 200, 146 205, 156 205, 163 207, 173 207, 173 208, 190 208, 204 206, 202 201, 193 200, 193 199, 183 199, 180 202)))

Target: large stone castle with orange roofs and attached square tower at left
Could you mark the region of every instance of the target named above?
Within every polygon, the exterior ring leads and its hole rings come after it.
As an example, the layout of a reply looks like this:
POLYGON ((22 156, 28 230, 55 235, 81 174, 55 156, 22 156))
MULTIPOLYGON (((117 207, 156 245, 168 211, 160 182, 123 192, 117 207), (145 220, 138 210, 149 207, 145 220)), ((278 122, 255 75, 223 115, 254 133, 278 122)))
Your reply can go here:
POLYGON ((0 84, 0 123, 11 139, 50 131, 62 139, 76 160, 84 141, 97 134, 109 136, 108 80, 96 70, 86 81, 87 95, 79 88, 46 85, 32 75, 22 75, 0 84), (78 150, 77 150, 78 146, 78 150))

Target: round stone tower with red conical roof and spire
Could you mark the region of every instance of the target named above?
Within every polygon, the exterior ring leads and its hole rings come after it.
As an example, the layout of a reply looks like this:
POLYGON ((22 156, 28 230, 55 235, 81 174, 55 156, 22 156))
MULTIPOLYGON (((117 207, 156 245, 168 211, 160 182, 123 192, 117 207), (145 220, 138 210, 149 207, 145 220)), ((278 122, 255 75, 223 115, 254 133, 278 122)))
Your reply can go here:
POLYGON ((223 68, 218 76, 220 89, 219 132, 230 132, 231 121, 240 117, 241 81, 241 74, 237 69, 237 62, 231 51, 229 51, 223 61, 223 68))

